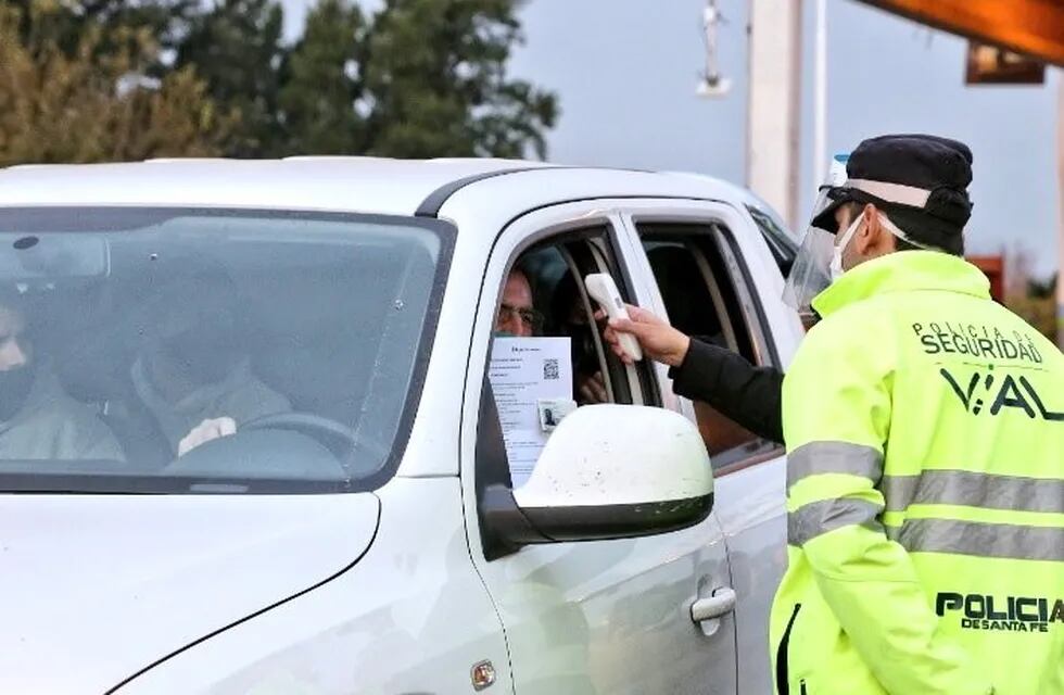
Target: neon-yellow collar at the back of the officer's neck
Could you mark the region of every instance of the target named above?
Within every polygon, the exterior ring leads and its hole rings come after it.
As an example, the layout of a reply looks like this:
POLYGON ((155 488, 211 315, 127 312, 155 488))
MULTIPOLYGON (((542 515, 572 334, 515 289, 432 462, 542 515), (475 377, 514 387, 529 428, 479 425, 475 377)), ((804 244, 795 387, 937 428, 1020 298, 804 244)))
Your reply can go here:
POLYGON ((898 251, 847 270, 813 299, 813 308, 826 318, 874 294, 914 290, 990 299, 990 281, 963 258, 937 251, 898 251))

